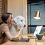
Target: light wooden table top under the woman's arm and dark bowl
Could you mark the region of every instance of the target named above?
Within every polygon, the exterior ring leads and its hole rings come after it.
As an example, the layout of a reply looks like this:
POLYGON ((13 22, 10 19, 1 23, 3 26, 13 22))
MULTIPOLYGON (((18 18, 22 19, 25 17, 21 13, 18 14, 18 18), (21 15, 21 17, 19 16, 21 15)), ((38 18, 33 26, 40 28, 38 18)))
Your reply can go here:
MULTIPOLYGON (((27 34, 27 35, 32 36, 32 34, 27 34)), ((45 41, 35 41, 35 39, 30 39, 29 42, 12 42, 12 41, 8 41, 8 42, 6 42, 2 45, 45 45, 45 41)))

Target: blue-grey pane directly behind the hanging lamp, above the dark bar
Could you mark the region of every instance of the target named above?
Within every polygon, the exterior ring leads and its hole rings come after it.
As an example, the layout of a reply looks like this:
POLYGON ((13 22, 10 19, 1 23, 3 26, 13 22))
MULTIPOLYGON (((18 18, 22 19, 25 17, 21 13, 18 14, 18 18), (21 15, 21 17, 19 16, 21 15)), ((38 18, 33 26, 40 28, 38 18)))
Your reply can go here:
POLYGON ((38 5, 31 5, 31 25, 45 25, 45 10, 44 3, 38 5), (35 12, 40 11, 40 19, 35 20, 33 17, 35 16, 35 12), (34 23, 33 23, 34 22, 34 23))

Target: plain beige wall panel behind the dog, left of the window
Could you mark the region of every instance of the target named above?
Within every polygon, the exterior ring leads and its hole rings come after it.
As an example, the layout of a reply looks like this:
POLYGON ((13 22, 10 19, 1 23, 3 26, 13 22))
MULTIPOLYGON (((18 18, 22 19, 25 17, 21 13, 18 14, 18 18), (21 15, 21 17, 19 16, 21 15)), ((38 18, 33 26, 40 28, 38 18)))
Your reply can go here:
MULTIPOLYGON (((14 17, 18 15, 24 16, 27 25, 27 0, 8 0, 8 12, 11 12, 14 17)), ((27 27, 23 32, 27 33, 27 27)))

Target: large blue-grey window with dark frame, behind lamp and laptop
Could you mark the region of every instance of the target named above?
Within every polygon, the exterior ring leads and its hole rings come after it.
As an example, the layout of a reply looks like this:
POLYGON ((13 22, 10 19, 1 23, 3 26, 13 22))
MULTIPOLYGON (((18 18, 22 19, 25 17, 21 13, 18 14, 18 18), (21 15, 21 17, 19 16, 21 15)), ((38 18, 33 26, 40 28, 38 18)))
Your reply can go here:
MULTIPOLYGON (((45 2, 40 1, 36 3, 27 4, 27 23, 28 33, 34 33, 36 26, 42 25, 45 27, 45 2), (36 11, 40 11, 40 19, 34 19, 36 11)), ((44 32, 44 28, 42 29, 44 32)))

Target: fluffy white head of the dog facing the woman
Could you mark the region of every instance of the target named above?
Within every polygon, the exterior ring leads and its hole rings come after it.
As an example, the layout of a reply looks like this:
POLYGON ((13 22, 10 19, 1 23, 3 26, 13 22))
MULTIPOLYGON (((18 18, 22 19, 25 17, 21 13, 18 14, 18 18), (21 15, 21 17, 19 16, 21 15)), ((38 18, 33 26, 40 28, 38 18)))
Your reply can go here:
POLYGON ((23 16, 16 16, 14 21, 18 27, 26 27, 25 18, 23 16))

